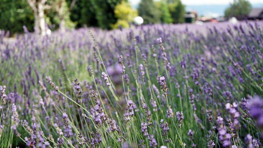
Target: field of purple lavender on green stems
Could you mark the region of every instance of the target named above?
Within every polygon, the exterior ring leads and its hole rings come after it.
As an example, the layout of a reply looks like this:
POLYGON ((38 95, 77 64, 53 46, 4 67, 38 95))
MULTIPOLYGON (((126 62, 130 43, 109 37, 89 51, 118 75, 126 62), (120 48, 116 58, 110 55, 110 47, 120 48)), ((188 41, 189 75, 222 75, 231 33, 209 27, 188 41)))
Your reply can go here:
POLYGON ((263 22, 1 36, 0 147, 263 147, 263 22))

